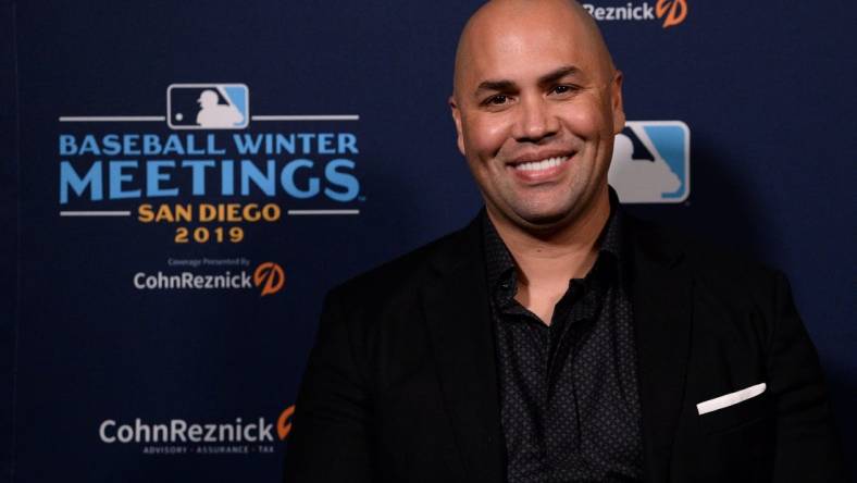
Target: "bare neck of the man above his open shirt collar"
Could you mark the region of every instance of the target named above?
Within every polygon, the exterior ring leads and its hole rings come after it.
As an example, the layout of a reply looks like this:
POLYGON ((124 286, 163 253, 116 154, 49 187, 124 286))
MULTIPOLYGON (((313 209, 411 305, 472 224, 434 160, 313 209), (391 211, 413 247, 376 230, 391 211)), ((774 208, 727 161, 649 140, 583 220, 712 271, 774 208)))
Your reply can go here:
POLYGON ((583 278, 598 257, 598 236, 610 216, 604 196, 566 225, 545 233, 530 232, 488 211, 497 234, 518 269, 516 299, 546 324, 571 278, 583 278))

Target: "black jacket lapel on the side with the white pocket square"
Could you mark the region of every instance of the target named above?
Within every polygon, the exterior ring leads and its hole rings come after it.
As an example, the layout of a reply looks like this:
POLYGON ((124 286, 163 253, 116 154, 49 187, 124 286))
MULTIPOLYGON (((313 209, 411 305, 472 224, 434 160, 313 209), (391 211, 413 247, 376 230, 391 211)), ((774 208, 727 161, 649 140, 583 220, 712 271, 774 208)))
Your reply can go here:
POLYGON ((692 278, 681 248, 657 232, 634 227, 630 246, 645 467, 647 481, 662 482, 684 398, 692 278))

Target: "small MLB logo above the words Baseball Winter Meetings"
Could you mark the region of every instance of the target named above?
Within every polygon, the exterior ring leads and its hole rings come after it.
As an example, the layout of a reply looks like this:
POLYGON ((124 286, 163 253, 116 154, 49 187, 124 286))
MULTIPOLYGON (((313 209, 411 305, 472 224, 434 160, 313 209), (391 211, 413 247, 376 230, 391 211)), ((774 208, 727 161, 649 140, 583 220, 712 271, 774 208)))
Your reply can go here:
POLYGON ((172 84, 166 123, 173 129, 243 129, 250 123, 250 90, 244 84, 172 84))

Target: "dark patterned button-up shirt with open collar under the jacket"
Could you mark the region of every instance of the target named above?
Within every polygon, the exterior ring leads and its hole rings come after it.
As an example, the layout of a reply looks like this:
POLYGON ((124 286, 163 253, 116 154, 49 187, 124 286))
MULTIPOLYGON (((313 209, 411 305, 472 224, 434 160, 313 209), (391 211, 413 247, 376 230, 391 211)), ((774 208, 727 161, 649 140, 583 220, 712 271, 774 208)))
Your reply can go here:
POLYGON ((514 261, 488 216, 483 220, 508 481, 642 481, 621 212, 612 210, 595 264, 569 282, 550 325, 514 299, 514 261))

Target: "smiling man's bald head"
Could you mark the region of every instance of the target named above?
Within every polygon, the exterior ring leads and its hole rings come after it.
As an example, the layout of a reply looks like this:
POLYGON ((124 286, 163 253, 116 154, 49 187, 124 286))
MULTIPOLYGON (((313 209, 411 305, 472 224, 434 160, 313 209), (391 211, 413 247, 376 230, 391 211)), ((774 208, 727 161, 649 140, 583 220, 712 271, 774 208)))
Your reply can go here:
POLYGON ((495 221, 549 232, 608 202, 621 87, 598 27, 571 0, 494 0, 473 14, 449 102, 495 221))

